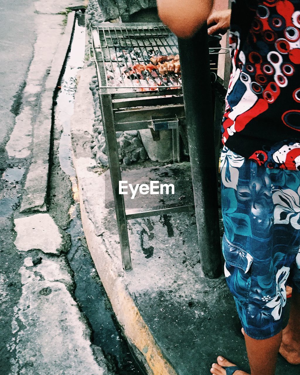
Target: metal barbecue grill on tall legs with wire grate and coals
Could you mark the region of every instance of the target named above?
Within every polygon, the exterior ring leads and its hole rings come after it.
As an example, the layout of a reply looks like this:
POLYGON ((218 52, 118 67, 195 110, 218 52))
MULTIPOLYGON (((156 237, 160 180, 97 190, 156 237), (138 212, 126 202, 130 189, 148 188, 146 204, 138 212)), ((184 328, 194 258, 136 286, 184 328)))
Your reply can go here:
MULTIPOLYGON (((145 70, 136 75, 132 71, 135 64, 147 65, 153 55, 177 55, 178 43, 174 34, 160 23, 102 23, 93 25, 91 33, 93 57, 90 58, 96 63, 99 81, 122 262, 124 269, 130 270, 128 219, 193 209, 191 203, 151 207, 147 211, 125 210, 123 195, 118 193, 122 178, 115 132, 152 129, 155 133, 172 129, 173 159, 180 162, 179 135, 184 139, 181 120, 185 117, 180 74, 159 71, 153 74, 145 70)), ((218 54, 226 52, 220 48, 219 41, 220 37, 209 37, 210 71, 217 83, 220 82, 216 75, 218 54)))

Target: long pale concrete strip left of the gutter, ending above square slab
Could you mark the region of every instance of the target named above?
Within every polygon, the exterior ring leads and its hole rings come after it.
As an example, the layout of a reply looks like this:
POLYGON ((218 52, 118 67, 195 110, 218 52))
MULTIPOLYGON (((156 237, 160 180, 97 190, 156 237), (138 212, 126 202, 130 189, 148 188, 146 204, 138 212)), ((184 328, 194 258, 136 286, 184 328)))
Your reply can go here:
MULTIPOLYGON (((74 24, 74 12, 68 16, 66 34, 60 40, 63 31, 63 15, 39 15, 40 33, 34 46, 34 58, 28 72, 27 82, 36 85, 40 91, 36 92, 36 100, 30 101, 32 106, 37 106, 39 110, 35 112, 31 122, 34 123, 32 134, 32 157, 33 163, 29 167, 27 180, 25 184, 25 195, 23 197, 21 211, 39 210, 46 211, 46 192, 49 171, 50 154, 50 134, 52 126, 52 96, 58 81, 60 69, 62 68, 66 51, 71 39, 71 32, 74 24), (47 22, 46 32, 44 30, 47 22), (58 24, 60 23, 60 24, 58 24), (41 53, 47 45, 47 54, 41 53), (55 55, 58 54, 60 63, 55 62, 55 55), (53 64, 54 72, 48 69, 53 64), (57 72, 57 69, 59 71, 57 72), (48 83, 50 81, 51 83, 48 83), (43 82, 42 86, 40 83, 43 82)), ((27 90, 24 89, 26 98, 27 90)), ((30 90, 30 99, 32 98, 32 89, 30 90)), ((16 129, 18 131, 18 129, 16 129)), ((11 138, 12 139, 12 138, 11 138)))

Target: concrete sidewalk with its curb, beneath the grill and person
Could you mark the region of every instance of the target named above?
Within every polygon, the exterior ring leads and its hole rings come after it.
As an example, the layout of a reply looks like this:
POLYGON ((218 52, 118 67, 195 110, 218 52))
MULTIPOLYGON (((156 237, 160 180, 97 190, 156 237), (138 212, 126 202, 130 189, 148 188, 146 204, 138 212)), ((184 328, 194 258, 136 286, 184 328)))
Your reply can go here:
MULTIPOLYGON (((128 341, 149 374, 209 374, 219 354, 249 371, 225 279, 202 274, 192 213, 130 220, 133 270, 123 271, 114 208, 105 206, 108 172, 96 164, 90 148, 94 111, 89 82, 94 75, 95 67, 85 66, 78 78, 71 126, 74 165, 89 250, 128 341)), ((136 174, 148 178, 149 169, 137 168, 136 174)), ((188 171, 189 164, 181 168, 188 171)), ((276 374, 299 370, 280 357, 276 374)))

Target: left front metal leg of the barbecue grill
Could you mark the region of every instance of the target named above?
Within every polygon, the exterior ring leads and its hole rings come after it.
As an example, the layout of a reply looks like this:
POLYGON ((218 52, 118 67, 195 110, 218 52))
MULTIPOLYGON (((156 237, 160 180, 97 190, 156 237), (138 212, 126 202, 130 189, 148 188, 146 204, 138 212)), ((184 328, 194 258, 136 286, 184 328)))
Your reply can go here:
POLYGON ((115 214, 121 244, 122 264, 125 271, 132 270, 130 247, 127 231, 127 220, 123 195, 119 194, 119 181, 122 180, 118 156, 118 142, 115 135, 114 113, 111 95, 100 95, 102 120, 107 145, 108 165, 110 167, 111 184, 113 187, 115 214), (104 115, 105 114, 105 115, 104 115))

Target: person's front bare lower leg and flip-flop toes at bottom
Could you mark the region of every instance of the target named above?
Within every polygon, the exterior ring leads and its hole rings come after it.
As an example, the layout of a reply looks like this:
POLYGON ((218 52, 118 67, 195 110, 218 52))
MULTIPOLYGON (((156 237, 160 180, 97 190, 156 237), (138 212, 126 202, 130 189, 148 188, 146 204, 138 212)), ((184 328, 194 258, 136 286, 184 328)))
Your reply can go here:
MULTIPOLYGON (((265 340, 256 340, 245 334, 246 348, 251 368, 251 375, 274 375, 279 347, 282 341, 282 332, 265 340)), ((211 374, 226 375, 223 367, 234 366, 222 357, 213 363, 211 374)), ((244 371, 236 371, 234 375, 249 375, 244 371)))

